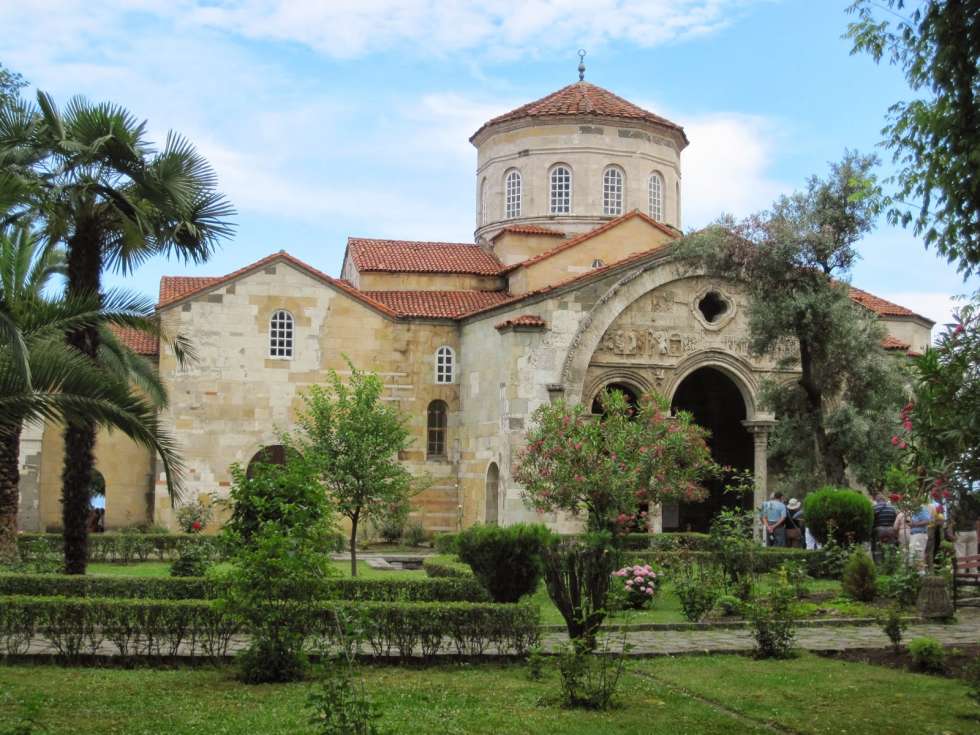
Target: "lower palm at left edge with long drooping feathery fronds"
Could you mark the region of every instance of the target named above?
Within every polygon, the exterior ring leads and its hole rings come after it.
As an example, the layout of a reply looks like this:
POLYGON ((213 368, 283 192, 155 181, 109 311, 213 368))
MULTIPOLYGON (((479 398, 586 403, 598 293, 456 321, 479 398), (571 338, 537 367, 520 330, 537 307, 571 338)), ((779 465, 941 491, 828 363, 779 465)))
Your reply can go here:
MULTIPOLYGON (((0 338, 0 559, 16 554, 20 434, 25 421, 85 417, 122 430, 159 452, 168 487, 179 491, 182 471, 173 440, 157 423, 165 393, 149 363, 119 344, 107 324, 157 333, 152 305, 125 294, 101 303, 44 295, 63 271, 60 248, 42 244, 26 225, 0 230, 0 317, 12 325, 26 361, 0 338), (68 347, 67 331, 94 325, 102 332, 100 363, 68 347)), ((178 355, 186 348, 178 341, 178 355)), ((86 509, 87 511, 87 509, 86 509)))

